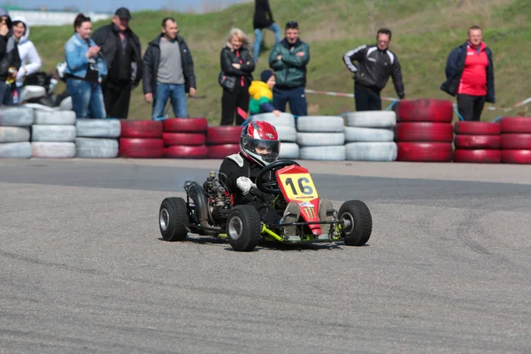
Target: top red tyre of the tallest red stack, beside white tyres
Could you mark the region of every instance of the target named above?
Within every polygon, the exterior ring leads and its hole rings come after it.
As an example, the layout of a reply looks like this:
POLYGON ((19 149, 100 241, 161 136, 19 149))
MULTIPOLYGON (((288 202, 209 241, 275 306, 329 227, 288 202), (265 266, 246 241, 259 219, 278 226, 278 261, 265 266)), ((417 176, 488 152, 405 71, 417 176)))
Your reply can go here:
POLYGON ((397 121, 450 123, 453 119, 453 104, 449 100, 439 99, 401 100, 396 112, 397 121))

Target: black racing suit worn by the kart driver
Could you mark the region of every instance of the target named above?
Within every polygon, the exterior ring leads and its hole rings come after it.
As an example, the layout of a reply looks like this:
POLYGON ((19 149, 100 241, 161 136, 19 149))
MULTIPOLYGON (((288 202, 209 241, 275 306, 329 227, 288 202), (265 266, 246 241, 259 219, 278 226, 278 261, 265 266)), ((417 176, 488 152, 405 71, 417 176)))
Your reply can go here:
MULTIPOLYGON (((243 195, 242 190, 236 185, 238 177, 248 177, 250 181, 256 184, 257 175, 262 170, 259 165, 255 165, 249 159, 243 158, 242 154, 237 155, 243 160, 242 166, 238 165, 230 157, 225 158, 219 167, 219 181, 226 184, 228 193, 234 197, 234 205, 250 204, 257 209, 260 219, 266 224, 278 224, 281 220, 281 215, 278 215, 271 206, 273 195, 266 194, 258 189, 253 189, 250 193, 243 195)), ((264 176, 264 181, 273 181, 273 178, 274 174, 271 171, 264 176)))

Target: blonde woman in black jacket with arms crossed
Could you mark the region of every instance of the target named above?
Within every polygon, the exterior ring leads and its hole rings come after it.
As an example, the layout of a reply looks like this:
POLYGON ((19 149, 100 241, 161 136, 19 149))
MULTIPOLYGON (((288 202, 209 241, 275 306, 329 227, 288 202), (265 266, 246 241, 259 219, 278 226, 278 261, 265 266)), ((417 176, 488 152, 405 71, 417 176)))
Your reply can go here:
POLYGON ((249 86, 255 69, 248 45, 247 35, 240 28, 233 28, 221 50, 221 126, 231 126, 235 118, 239 126, 247 119, 249 86))

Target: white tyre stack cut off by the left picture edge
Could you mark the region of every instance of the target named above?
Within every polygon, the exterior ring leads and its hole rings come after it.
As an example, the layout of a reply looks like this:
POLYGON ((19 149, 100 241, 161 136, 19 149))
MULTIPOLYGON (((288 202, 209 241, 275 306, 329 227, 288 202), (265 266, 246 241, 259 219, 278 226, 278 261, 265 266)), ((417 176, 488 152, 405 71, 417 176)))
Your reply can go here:
POLYGON ((0 107, 0 158, 31 158, 34 119, 32 108, 0 107))

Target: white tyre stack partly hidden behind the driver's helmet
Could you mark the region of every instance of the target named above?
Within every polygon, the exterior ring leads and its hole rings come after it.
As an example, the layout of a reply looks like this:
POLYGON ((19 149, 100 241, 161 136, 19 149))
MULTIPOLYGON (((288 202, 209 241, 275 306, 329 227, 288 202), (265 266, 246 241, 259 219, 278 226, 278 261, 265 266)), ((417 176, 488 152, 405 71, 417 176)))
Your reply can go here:
POLYGON ((289 113, 281 113, 278 117, 273 113, 261 113, 250 117, 251 121, 262 120, 276 128, 281 140, 279 158, 292 159, 299 157, 299 146, 296 143, 295 117, 289 113))

